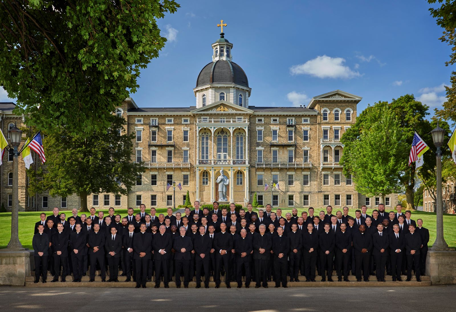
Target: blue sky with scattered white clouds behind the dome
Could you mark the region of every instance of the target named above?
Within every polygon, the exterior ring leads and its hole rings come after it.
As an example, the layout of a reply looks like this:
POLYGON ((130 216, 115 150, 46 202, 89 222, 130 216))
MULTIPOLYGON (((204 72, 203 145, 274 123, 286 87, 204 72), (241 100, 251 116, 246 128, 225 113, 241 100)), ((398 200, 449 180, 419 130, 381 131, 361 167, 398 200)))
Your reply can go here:
POLYGON ((335 89, 363 97, 358 114, 406 93, 431 115, 444 102, 451 51, 438 40, 442 29, 425 0, 178 2, 175 14, 159 20, 165 48, 131 95, 140 107, 195 105, 192 88, 212 61, 221 19, 233 61, 249 78, 250 105, 306 105, 335 89))

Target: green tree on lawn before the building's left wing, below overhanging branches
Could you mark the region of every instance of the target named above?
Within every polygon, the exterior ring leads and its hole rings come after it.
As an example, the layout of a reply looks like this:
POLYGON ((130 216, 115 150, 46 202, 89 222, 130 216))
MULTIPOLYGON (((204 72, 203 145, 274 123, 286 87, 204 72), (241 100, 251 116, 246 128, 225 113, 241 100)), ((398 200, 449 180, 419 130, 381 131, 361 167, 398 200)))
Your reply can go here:
MULTIPOLYGON (((46 163, 36 171, 27 170, 30 193, 48 191, 51 196, 77 194, 81 211, 88 211, 87 196, 98 193, 127 195, 136 183, 142 164, 132 161, 134 133, 119 134, 124 118, 110 114, 111 127, 92 136, 73 135, 67 127, 45 135, 46 163)), ((126 133, 124 131, 124 133, 126 133)))

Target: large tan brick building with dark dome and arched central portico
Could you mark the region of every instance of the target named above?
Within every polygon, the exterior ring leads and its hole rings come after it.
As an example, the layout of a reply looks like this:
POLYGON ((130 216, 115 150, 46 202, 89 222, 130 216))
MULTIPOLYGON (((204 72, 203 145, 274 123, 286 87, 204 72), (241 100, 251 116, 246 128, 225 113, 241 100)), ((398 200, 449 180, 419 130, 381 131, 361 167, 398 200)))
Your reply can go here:
MULTIPOLYGON (((244 70, 232 61, 232 49, 223 34, 212 44, 212 61, 197 75, 193 89, 195 106, 138 107, 128 98, 118 107, 116 113, 128 122, 126 131, 135 133, 132 161, 144 162, 146 171, 127 196, 91 194, 88 206, 172 207, 173 189, 167 190, 167 184, 173 181, 182 185, 176 188, 176 205, 184 203, 187 190, 192 201, 212 203, 219 200, 221 170, 228 178, 228 202, 245 205, 256 192, 259 204, 275 207, 378 205, 380 197, 356 192, 352 177, 344 176, 339 165, 340 138, 355 123, 362 98, 336 90, 313 97, 305 107, 249 105, 252 89, 244 70), (273 183, 279 187, 271 192, 273 183)), ((0 103, 5 136, 15 122, 24 122, 13 108, 13 103, 0 103)), ((40 160, 34 157, 36 165, 40 160)), ((5 153, 3 162, 1 200, 10 209, 12 155, 5 153)), ((79 207, 76 195, 29 194, 22 162, 19 168, 21 210, 79 207)), ((385 199, 387 210, 396 203, 395 194, 385 199)))

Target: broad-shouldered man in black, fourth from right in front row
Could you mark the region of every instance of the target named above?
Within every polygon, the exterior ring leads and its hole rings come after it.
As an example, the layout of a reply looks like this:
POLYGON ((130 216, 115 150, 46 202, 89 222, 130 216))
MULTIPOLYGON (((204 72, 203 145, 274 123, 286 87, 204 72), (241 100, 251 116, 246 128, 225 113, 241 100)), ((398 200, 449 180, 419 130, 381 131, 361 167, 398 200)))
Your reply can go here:
POLYGON ((366 225, 359 225, 358 232, 353 233, 353 249, 356 261, 356 280, 361 281, 363 269, 364 281, 369 281, 369 258, 372 250, 372 236, 365 233, 366 225))

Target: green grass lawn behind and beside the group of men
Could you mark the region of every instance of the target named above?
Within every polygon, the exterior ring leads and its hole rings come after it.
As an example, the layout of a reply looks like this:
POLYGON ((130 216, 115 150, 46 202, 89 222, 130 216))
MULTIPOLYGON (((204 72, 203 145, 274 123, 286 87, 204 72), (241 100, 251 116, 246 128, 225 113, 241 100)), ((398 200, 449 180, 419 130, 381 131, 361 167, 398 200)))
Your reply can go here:
MULTIPOLYGON (((256 210, 256 209, 255 209, 256 210)), ((108 213, 107 210, 104 211, 105 215, 108 213)), ((298 215, 301 215, 303 209, 298 209, 298 215)), ((318 215, 320 210, 316 210, 315 214, 318 215)), ((333 211, 333 214, 336 214, 337 210, 333 211)), ((388 210, 387 210, 388 211, 388 210)), ((71 211, 62 211, 67 217, 71 215, 71 211)), ((291 212, 291 208, 283 208, 282 214, 285 216, 287 212, 291 212)), ((40 211, 38 212, 20 212, 19 213, 19 239, 21 240, 22 246, 25 248, 31 248, 31 240, 33 236, 33 226, 35 222, 40 220, 40 211)), ((136 213, 136 211, 135 211, 136 213)), ((158 213, 166 213, 166 208, 157 209, 158 213)), ((52 214, 52 211, 46 211, 46 214, 52 214)), ((117 209, 116 214, 122 216, 127 215, 126 209, 117 209)), ((354 211, 350 210, 350 215, 354 216, 354 211)), ((368 210, 368 214, 372 214, 372 210, 368 210)), ((81 213, 79 213, 81 215, 81 213)), ((423 212, 423 211, 414 211, 412 213, 412 219, 423 219, 423 225, 425 228, 429 229, 430 240, 429 246, 432 246, 435 240, 435 213, 423 212)), ((456 215, 443 215, 443 224, 444 224, 444 235, 445 240, 448 246, 455 248, 456 247, 456 215)), ((11 213, 0 213, 0 248, 5 248, 8 242, 10 241, 11 235, 11 213)))

